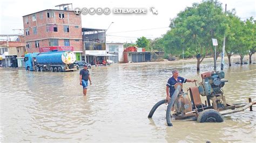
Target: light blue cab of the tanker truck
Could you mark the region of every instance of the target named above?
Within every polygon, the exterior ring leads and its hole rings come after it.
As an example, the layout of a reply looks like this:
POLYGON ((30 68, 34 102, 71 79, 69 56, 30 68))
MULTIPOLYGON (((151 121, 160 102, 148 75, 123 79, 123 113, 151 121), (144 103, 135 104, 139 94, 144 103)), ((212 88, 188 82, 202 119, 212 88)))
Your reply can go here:
POLYGON ((24 61, 25 61, 25 68, 26 70, 28 71, 33 71, 35 70, 35 62, 36 62, 36 56, 38 55, 39 53, 28 53, 28 54, 25 54, 24 56, 24 61))

